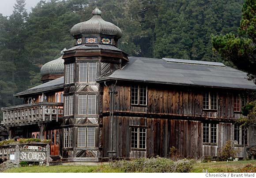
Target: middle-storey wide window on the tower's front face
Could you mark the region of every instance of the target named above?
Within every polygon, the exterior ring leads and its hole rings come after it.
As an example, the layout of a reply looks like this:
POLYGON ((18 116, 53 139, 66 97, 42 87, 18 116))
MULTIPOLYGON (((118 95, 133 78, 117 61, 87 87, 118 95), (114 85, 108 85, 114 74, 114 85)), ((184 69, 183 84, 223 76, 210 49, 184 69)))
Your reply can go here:
POLYGON ((84 94, 84 95, 80 95, 78 96, 78 115, 96 115, 97 114, 97 95, 96 94, 84 94), (80 96, 86 96, 85 98, 80 98, 80 96), (89 98, 89 96, 94 96, 94 98, 89 98), (80 102, 80 100, 83 100, 85 99, 86 102, 85 102, 85 108, 86 110, 80 110, 80 108, 83 108, 84 106, 80 105, 80 104, 83 104, 80 102), (95 106, 94 106, 94 110, 91 110, 91 111, 95 111, 95 113, 93 114, 89 114, 89 100, 95 100, 95 106), (80 111, 85 111, 85 114, 81 114, 80 111))

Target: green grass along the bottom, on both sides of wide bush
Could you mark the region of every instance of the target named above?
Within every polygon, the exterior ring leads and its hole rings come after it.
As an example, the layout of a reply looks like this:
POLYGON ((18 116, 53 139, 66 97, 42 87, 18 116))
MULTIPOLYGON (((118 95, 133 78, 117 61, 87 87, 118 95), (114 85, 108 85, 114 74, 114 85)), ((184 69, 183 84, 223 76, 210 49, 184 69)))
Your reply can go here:
MULTIPOLYGON (((216 162, 216 163, 196 163, 191 172, 200 173, 203 169, 208 172, 240 172, 241 168, 247 165, 256 166, 256 160, 238 162, 216 162)), ((255 170, 254 170, 255 171, 255 170)), ((92 173, 92 172, 124 172, 123 170, 113 170, 108 165, 103 166, 50 166, 50 167, 17 167, 4 171, 5 173, 92 173)), ((249 171, 250 172, 250 169, 249 171)))

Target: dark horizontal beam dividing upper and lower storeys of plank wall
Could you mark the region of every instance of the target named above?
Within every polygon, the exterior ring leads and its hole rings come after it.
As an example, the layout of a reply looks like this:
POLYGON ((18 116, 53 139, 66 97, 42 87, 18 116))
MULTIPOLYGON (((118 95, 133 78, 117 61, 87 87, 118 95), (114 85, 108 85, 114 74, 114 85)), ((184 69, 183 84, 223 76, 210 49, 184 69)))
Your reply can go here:
MULTIPOLYGON (((224 123, 234 123, 237 119, 229 118, 208 118, 208 117, 196 117, 196 116, 184 116, 184 115, 161 115, 161 114, 149 114, 149 113, 135 113, 135 112, 113 112, 114 116, 127 116, 127 117, 142 117, 142 118, 157 118, 157 119, 175 119, 175 120, 189 120, 189 121, 201 121, 201 122, 210 122, 215 121, 224 122, 224 123)), ((102 116, 109 116, 108 112, 103 112, 102 116)))

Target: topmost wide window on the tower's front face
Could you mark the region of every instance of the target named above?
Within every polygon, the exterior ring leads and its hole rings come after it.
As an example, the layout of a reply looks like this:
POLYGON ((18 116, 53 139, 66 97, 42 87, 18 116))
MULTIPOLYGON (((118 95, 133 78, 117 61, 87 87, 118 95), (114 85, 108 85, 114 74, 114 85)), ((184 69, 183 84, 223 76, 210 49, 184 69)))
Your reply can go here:
POLYGON ((79 82, 95 82, 97 63, 79 63, 79 82))

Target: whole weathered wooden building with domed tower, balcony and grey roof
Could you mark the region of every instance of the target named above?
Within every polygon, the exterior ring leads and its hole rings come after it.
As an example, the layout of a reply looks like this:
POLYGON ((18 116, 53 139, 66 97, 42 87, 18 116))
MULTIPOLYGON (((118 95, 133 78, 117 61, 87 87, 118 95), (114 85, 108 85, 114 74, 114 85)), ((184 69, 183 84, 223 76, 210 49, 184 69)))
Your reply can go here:
MULTIPOLYGON (((121 30, 101 14, 96 8, 72 27, 75 46, 42 67, 45 83, 15 95, 23 105, 2 108, 9 137, 19 127, 22 137, 49 138, 63 163, 169 157, 172 146, 182 157, 216 157, 228 140, 242 157, 244 132, 235 121, 256 90, 246 73, 215 62, 128 57, 117 47, 121 30)), ((245 145, 254 144, 255 130, 245 134, 245 145)))

